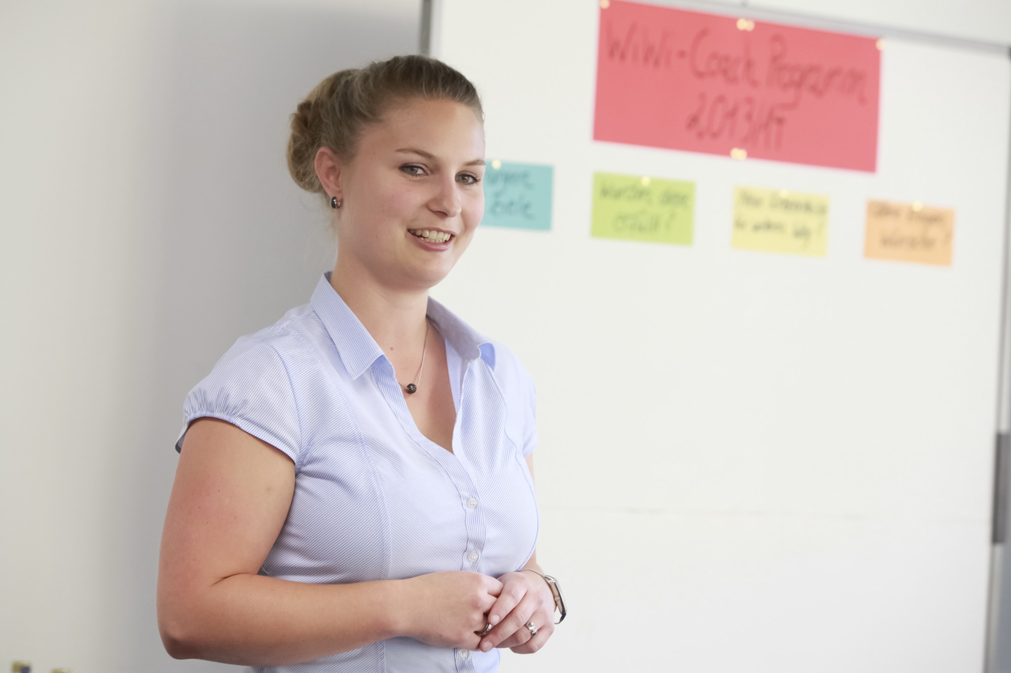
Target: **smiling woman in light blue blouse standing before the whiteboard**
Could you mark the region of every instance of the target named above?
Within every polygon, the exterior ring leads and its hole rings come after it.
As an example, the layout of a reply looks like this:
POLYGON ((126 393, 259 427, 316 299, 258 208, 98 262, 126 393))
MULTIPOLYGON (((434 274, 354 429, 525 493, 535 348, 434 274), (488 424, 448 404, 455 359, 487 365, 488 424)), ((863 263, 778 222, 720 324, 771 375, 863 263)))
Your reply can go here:
POLYGON ((493 648, 550 638, 533 383, 428 296, 481 220, 482 118, 424 57, 298 105, 288 166, 332 208, 337 264, 186 399, 158 585, 173 657, 494 671, 493 648))

